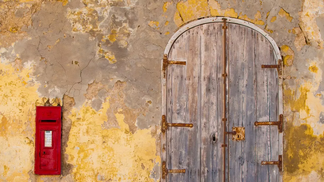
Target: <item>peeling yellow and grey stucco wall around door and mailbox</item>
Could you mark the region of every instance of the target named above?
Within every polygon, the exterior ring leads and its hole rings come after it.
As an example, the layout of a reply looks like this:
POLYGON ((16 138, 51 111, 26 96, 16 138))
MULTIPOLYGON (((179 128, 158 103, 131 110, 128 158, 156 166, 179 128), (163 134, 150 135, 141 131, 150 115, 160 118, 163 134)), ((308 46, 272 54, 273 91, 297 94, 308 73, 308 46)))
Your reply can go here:
POLYGON ((1 0, 0 181, 159 181, 160 59, 208 16, 284 60, 284 181, 324 181, 323 0, 1 0), (33 174, 35 107, 63 106, 62 175, 33 174))

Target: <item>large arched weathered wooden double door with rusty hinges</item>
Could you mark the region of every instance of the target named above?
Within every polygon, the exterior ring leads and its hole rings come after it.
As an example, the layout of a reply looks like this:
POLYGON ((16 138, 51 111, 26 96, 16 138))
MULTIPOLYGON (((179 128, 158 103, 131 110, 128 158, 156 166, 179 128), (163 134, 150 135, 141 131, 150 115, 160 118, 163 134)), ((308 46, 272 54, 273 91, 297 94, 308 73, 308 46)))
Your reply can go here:
POLYGON ((279 51, 228 19, 187 28, 164 56, 161 181, 281 180, 279 51))

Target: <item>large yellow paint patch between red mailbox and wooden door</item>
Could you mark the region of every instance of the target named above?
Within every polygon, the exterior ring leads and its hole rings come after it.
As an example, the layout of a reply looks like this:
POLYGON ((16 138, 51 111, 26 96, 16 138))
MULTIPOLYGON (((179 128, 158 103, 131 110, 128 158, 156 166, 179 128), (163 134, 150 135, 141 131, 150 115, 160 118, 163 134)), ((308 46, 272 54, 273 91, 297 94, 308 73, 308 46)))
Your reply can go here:
MULTIPOLYGON (((72 127, 67 143, 68 163, 74 165, 75 181, 143 181, 154 182, 150 177, 156 156, 156 139, 151 129, 130 132, 121 108, 113 113, 118 122, 116 128, 102 129, 108 120, 108 97, 97 112, 85 103, 80 109, 73 108, 69 118, 72 127)), ((160 161, 158 161, 160 162, 160 161)))

